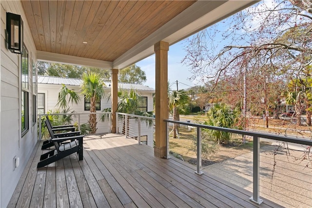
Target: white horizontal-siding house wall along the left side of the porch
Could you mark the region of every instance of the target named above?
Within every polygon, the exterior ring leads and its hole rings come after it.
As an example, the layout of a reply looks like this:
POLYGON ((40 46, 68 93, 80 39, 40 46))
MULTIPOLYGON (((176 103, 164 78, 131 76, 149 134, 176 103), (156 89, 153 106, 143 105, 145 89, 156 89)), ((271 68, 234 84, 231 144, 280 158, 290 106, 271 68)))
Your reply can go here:
POLYGON ((20 1, 1 0, 0 2, 0 207, 6 207, 37 143, 37 125, 33 125, 32 121, 32 62, 36 63, 37 58, 35 44, 20 1), (6 12, 21 15, 24 23, 24 44, 29 54, 29 130, 23 136, 21 135, 21 55, 6 49, 6 12), (14 157, 20 160, 16 168, 13 166, 14 157))

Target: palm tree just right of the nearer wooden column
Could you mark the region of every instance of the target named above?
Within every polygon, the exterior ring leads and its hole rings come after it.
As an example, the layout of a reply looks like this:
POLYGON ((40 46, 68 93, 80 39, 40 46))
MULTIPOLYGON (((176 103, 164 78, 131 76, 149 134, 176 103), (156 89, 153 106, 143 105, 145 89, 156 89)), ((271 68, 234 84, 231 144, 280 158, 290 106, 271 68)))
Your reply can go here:
MULTIPOLYGON (((170 90, 168 87, 168 104, 169 111, 173 112, 173 120, 180 121, 180 113, 186 113, 189 111, 189 96, 184 89, 180 90, 170 90)), ((178 133, 178 124, 174 124, 174 138, 176 138, 176 133, 178 133)))

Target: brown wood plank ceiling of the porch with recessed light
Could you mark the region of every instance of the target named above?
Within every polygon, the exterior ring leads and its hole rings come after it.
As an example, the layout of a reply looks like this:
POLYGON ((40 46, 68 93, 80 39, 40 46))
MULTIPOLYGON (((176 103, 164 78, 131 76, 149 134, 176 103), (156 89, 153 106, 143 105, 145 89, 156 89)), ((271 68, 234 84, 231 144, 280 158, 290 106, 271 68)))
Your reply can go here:
POLYGON ((195 1, 21 2, 37 50, 113 62, 195 1))

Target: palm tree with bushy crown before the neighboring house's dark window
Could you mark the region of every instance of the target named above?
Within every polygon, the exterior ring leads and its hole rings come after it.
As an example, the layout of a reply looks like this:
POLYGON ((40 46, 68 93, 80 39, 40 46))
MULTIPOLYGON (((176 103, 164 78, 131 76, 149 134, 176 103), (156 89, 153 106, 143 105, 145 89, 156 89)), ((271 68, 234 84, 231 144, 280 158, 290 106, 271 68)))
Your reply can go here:
MULTIPOLYGON (((90 100, 90 112, 97 112, 96 103, 104 96, 103 87, 106 86, 102 76, 98 73, 90 72, 82 75, 81 93, 86 99, 90 100)), ((89 125, 91 133, 97 132, 97 115, 89 115, 89 125)))

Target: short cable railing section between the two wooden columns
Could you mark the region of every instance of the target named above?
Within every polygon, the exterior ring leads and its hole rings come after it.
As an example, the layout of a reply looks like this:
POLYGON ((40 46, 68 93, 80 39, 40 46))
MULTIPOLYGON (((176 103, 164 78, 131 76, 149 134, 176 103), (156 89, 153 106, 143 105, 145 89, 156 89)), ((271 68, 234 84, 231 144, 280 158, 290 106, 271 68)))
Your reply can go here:
POLYGON ((116 113, 117 133, 136 139, 138 145, 154 146, 155 118, 126 113, 116 113))

